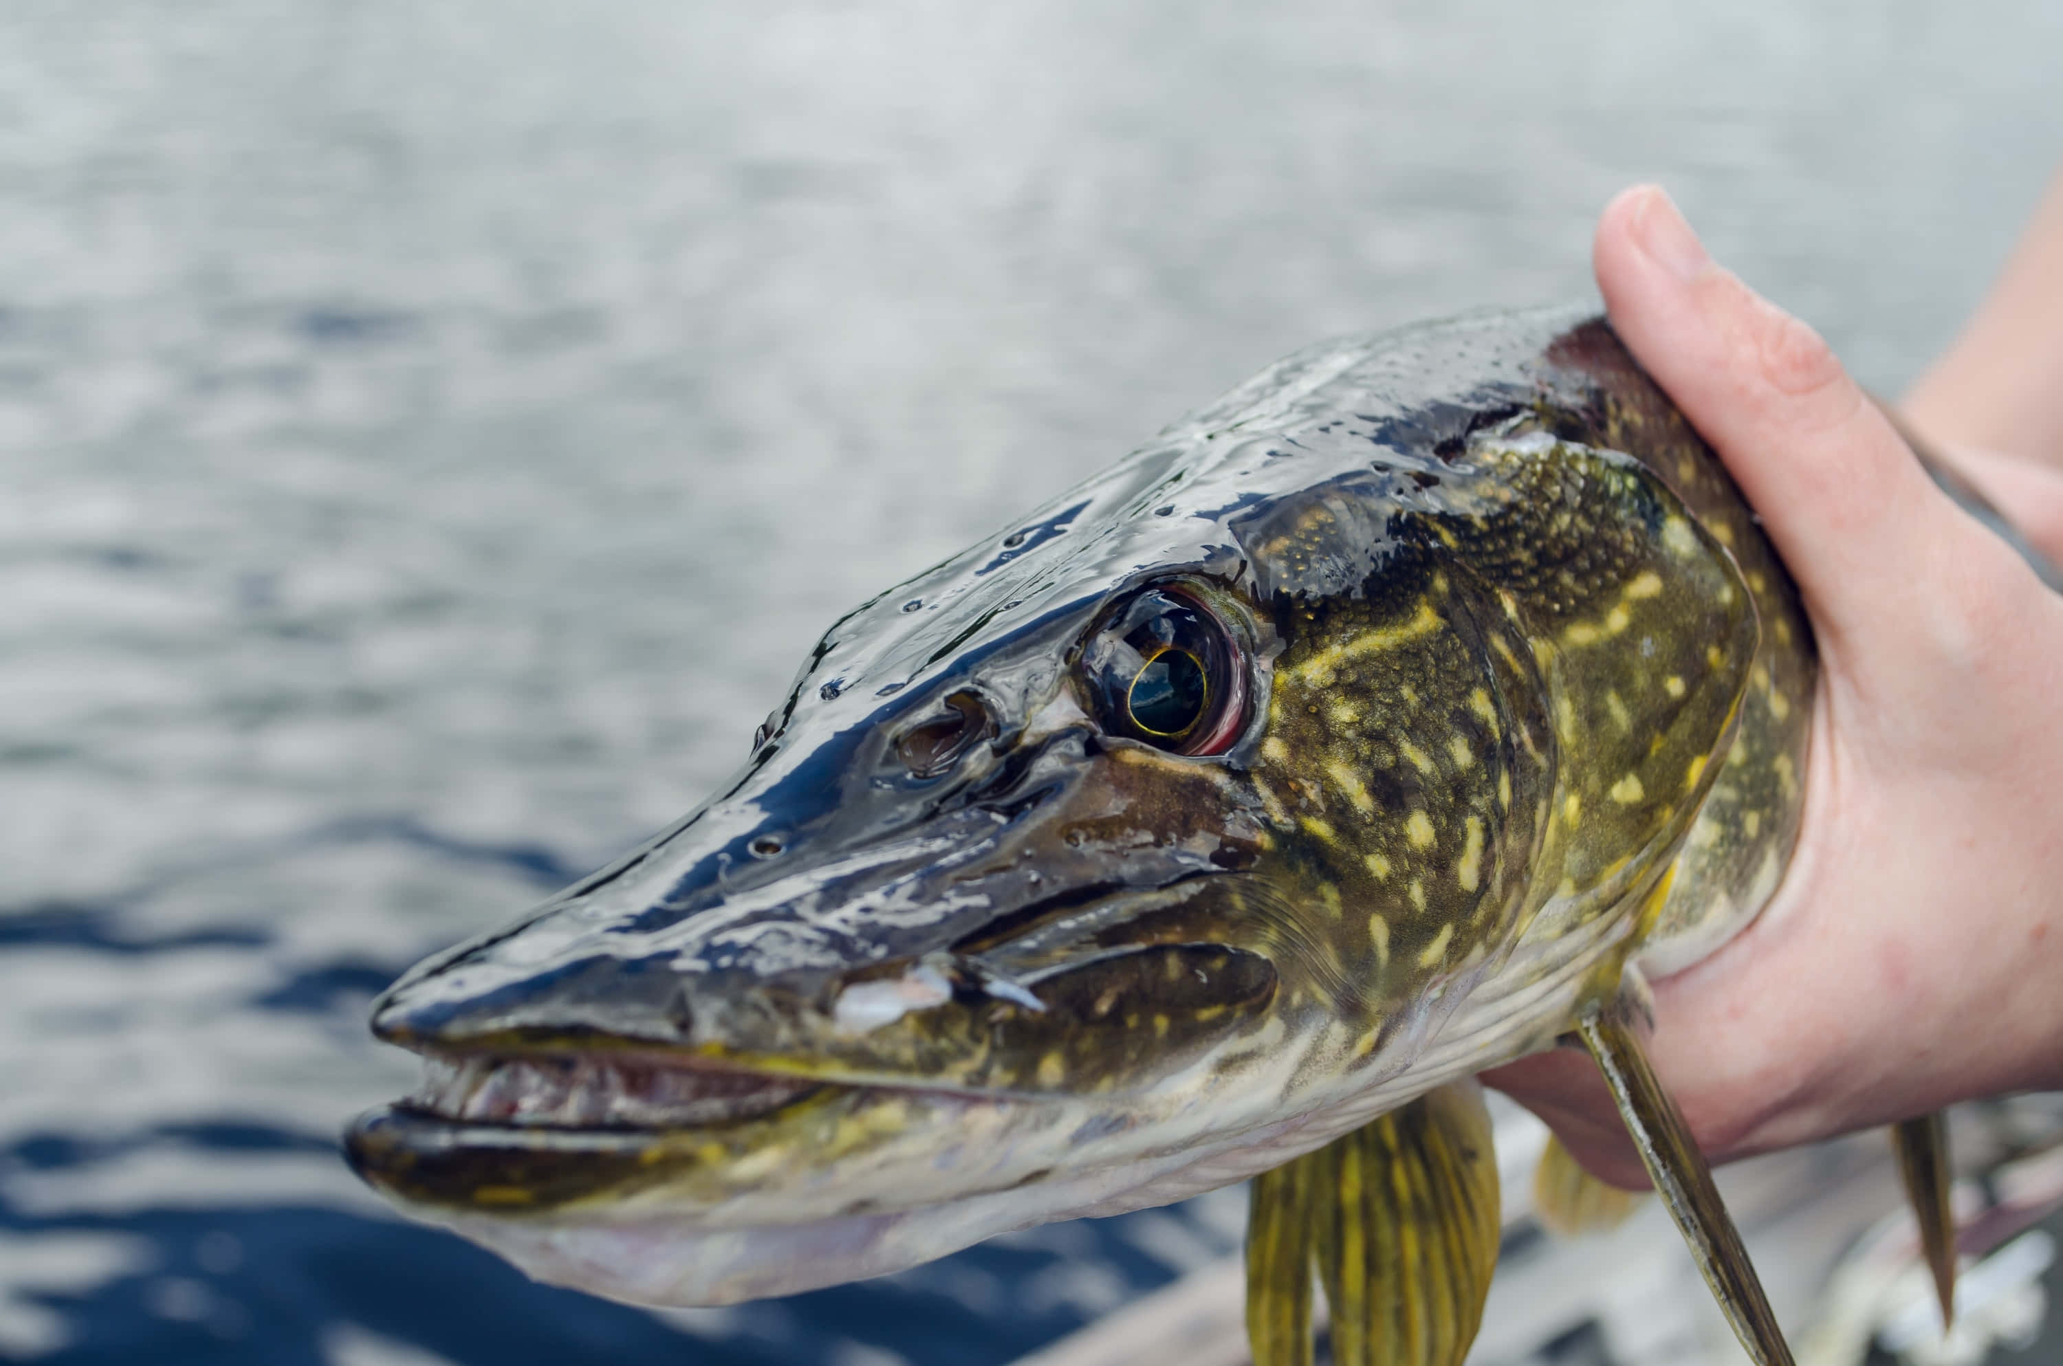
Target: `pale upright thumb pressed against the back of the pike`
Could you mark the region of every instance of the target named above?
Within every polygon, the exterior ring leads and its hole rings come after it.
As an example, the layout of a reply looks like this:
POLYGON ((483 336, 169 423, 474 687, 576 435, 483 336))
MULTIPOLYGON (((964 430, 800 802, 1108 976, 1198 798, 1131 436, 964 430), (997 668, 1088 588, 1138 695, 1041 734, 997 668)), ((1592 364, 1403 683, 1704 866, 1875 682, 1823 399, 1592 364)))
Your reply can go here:
POLYGON ((1815 619, 1846 633, 1900 611, 1943 549, 1941 495, 1818 332, 1714 264, 1655 186, 1605 208, 1593 258, 1613 328, 1725 458, 1815 619))

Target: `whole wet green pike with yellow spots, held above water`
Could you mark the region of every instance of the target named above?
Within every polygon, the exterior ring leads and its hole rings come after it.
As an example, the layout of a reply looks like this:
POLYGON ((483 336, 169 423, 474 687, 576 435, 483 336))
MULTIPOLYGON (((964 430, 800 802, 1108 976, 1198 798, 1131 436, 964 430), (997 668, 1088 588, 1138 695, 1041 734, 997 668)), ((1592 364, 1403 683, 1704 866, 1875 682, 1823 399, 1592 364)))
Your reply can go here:
MULTIPOLYGON (((1638 1001, 1782 879, 1813 677, 1605 320, 1324 343, 846 615, 693 815, 402 976, 373 1030, 425 1081, 349 1158, 642 1304, 1258 1178, 1263 1366, 1314 1283, 1343 1366, 1452 1366, 1498 1246, 1471 1077, 1580 1040, 1789 1360, 1638 1001)), ((1941 1207, 1939 1131, 1906 1149, 1941 1207)))

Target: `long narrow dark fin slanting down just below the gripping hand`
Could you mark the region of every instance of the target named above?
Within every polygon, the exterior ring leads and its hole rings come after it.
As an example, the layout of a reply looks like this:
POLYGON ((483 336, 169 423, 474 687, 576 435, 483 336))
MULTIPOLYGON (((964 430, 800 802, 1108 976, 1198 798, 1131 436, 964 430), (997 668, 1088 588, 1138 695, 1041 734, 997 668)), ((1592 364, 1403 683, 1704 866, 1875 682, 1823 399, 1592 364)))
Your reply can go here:
POLYGON ((1619 1118, 1640 1149, 1655 1191, 1683 1232, 1704 1283, 1712 1288, 1721 1312, 1758 1366, 1791 1366, 1791 1347, 1776 1327, 1770 1300, 1762 1294, 1756 1267, 1747 1261, 1741 1234, 1718 1199, 1712 1168, 1690 1137, 1675 1102, 1648 1067, 1628 1009, 1613 1003, 1578 1019, 1576 1032, 1605 1073, 1619 1118))

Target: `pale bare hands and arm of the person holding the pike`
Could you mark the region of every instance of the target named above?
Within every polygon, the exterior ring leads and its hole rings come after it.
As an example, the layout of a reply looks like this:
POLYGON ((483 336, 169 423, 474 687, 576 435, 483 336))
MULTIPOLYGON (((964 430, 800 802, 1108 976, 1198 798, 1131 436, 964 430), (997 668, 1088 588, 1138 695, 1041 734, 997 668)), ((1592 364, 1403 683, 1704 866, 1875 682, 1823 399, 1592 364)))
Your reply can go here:
MULTIPOLYGON (((1595 268, 1762 516, 1822 652, 1797 854, 1760 920, 1655 982, 1657 1073, 1714 1160, 2063 1087, 2063 596, 1667 194, 1605 208, 1595 268)), ((2063 180, 1902 413, 2063 561, 2063 180)), ((1595 1174, 1646 1184, 1582 1050, 1485 1079, 1595 1174)))

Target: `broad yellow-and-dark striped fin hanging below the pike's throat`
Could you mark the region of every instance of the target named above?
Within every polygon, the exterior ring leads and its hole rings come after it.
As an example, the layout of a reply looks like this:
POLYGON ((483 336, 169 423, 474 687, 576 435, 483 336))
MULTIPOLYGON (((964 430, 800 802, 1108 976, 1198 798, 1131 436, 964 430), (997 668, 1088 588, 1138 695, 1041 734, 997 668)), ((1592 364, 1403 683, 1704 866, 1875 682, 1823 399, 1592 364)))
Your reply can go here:
POLYGON ((1419 1096, 1254 1180, 1256 1366, 1306 1366, 1310 1269, 1337 1366, 1461 1366, 1498 1265, 1498 1156, 1475 1081, 1419 1096))

